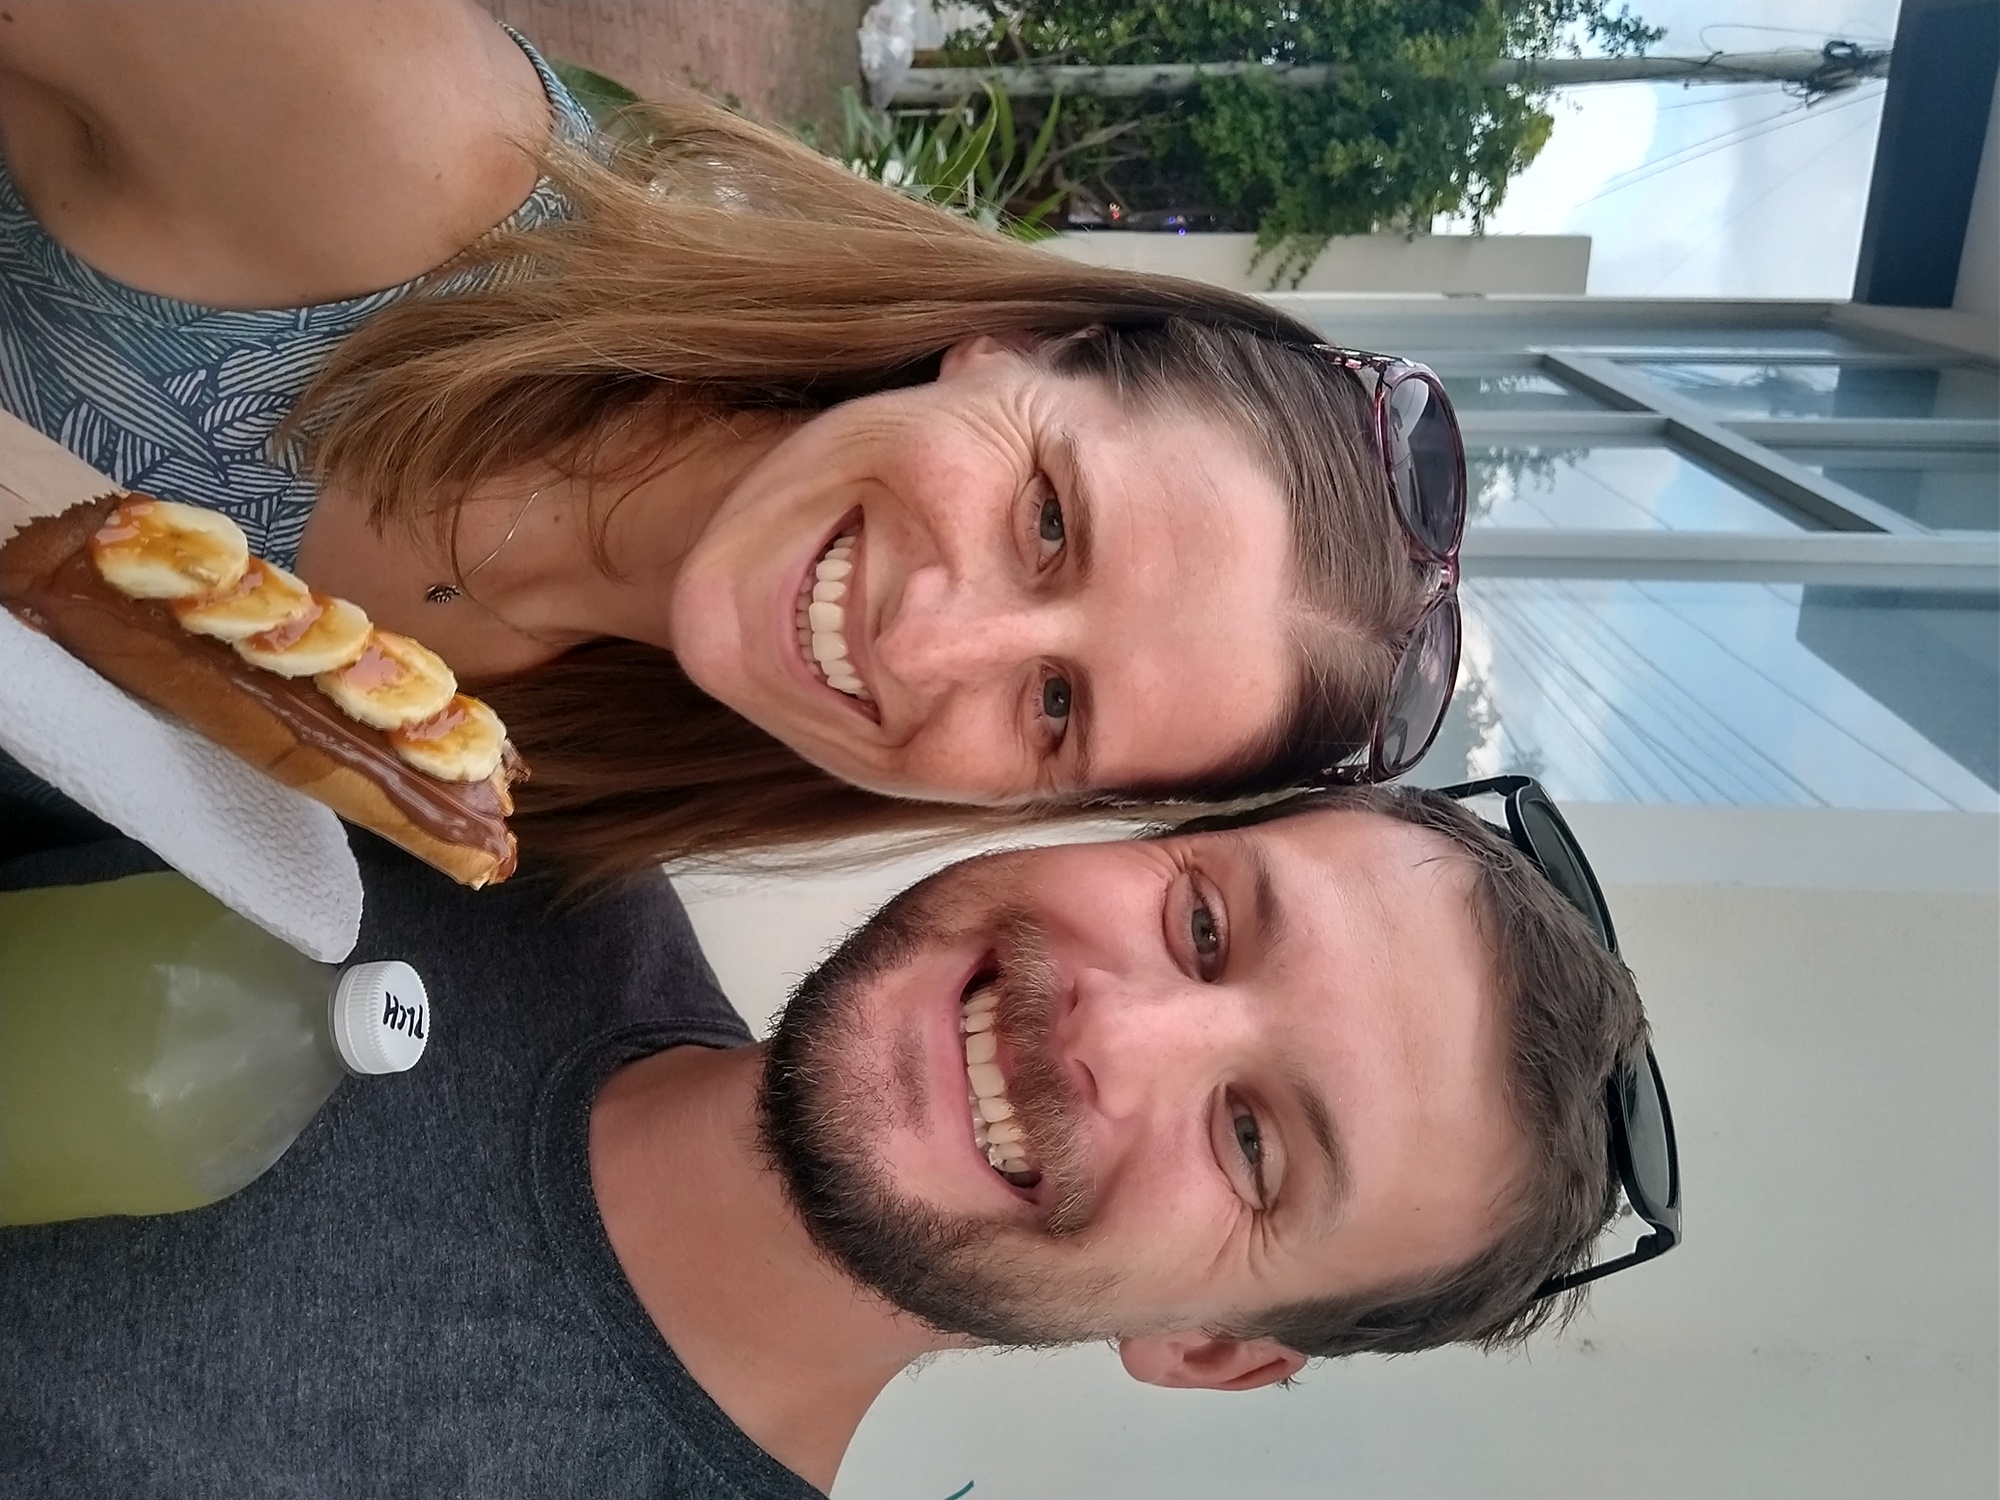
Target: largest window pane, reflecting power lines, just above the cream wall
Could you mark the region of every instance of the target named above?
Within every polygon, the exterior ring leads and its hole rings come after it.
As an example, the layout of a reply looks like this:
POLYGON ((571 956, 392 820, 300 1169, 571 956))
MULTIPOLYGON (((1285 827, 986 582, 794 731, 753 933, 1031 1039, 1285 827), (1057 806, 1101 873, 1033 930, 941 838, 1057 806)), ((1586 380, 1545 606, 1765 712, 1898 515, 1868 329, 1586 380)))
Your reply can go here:
POLYGON ((1414 780, 1578 802, 2000 808, 2000 598, 1476 578, 1414 780))

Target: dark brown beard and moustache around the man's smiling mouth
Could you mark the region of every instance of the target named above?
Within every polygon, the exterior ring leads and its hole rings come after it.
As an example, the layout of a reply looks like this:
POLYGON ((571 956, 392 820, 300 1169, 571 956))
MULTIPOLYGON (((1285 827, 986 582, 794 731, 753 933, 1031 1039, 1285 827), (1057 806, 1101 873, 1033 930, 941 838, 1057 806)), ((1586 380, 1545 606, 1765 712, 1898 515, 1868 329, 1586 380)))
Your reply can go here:
POLYGON ((1106 1338, 1112 1278, 1048 1256, 1088 1228, 1094 1208, 1074 1094, 1050 1048, 1054 968, 1030 918, 982 900, 984 868, 954 866, 902 892, 800 982, 764 1064, 764 1150, 822 1254, 932 1328, 1008 1346, 1106 1338), (978 932, 996 948, 996 1030, 1014 1058, 1008 1100, 1050 1204, 1038 1230, 916 1202, 878 1156, 900 1104, 922 1116, 924 1062, 882 1056, 880 1038, 864 1034, 862 998, 906 960, 978 932))

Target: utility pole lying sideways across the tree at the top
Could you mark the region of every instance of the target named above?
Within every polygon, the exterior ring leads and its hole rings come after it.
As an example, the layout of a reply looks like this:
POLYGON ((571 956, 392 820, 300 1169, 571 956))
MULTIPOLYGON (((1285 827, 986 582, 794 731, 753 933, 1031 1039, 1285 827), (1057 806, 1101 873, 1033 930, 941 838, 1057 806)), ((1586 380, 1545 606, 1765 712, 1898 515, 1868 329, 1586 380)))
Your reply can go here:
MULTIPOLYGON (((1502 58, 1484 72, 1494 86, 1578 88, 1582 84, 1678 82, 1678 84, 1796 84, 1808 98, 1838 94, 1870 78, 1888 78, 1888 50, 1870 52, 1854 42, 1782 52, 1710 52, 1692 58, 1502 58)), ((1150 64, 1048 64, 1014 68, 912 68, 890 94, 890 106, 948 106, 984 84, 1010 98, 1050 98, 1052 94, 1098 94, 1138 98, 1144 94, 1188 94, 1204 78, 1260 74, 1286 88, 1318 88, 1340 76, 1334 64, 1290 62, 1150 62, 1150 64)))

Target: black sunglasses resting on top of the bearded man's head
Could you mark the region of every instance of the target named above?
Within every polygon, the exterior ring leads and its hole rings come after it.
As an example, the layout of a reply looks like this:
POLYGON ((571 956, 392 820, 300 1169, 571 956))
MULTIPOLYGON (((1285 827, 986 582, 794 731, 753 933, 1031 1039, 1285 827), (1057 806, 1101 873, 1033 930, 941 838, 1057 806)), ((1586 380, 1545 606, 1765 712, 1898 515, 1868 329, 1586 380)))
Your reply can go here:
MULTIPOLYGON (((1534 868, 1584 914, 1606 952, 1618 954, 1618 932, 1598 878, 1584 858, 1582 844, 1556 804, 1532 776, 1490 776, 1482 782, 1440 786, 1444 796, 1466 802, 1476 796, 1498 796, 1506 810, 1508 842, 1534 860, 1534 868)), ((1648 1044, 1642 1056, 1626 1058, 1604 1086, 1604 1108, 1612 1126, 1612 1164, 1624 1186, 1632 1212, 1646 1220, 1646 1234, 1630 1252, 1566 1276, 1542 1282, 1534 1300, 1568 1292, 1600 1276, 1638 1266, 1664 1256, 1680 1244, 1680 1150, 1674 1146, 1674 1112, 1666 1104, 1666 1084, 1660 1080, 1660 1060, 1648 1044)))

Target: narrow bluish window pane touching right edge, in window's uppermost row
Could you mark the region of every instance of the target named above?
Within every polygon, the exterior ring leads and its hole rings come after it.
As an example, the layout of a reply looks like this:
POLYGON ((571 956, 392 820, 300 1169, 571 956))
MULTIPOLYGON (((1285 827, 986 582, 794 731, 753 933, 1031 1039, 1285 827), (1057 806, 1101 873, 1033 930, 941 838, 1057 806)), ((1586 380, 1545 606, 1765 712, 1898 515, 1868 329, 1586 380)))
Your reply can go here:
POLYGON ((2000 416, 2000 376, 1968 366, 1634 364, 1716 416, 2000 416))

